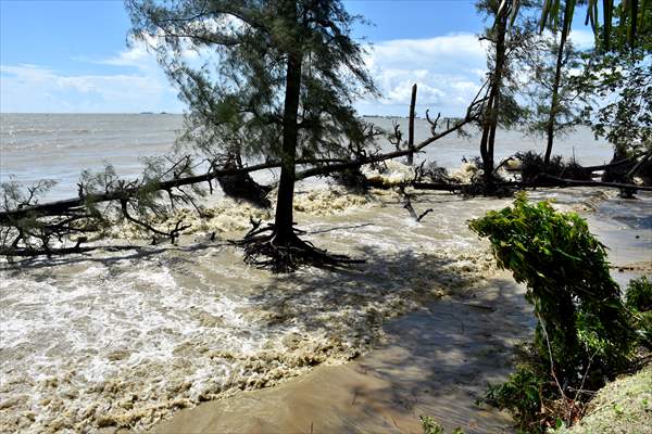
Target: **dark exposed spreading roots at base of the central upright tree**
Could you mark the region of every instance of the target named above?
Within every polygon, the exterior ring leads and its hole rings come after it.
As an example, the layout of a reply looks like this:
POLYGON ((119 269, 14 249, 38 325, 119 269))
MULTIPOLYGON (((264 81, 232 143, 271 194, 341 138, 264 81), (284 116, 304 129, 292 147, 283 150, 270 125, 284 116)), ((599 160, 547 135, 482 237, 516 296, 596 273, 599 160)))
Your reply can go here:
POLYGON ((253 221, 251 229, 242 240, 231 243, 244 251, 244 263, 272 272, 292 272, 299 267, 337 268, 351 264, 363 264, 363 259, 352 259, 346 255, 329 254, 303 241, 299 234, 303 231, 292 228, 289 233, 276 230, 274 225, 261 228, 260 221, 253 221))

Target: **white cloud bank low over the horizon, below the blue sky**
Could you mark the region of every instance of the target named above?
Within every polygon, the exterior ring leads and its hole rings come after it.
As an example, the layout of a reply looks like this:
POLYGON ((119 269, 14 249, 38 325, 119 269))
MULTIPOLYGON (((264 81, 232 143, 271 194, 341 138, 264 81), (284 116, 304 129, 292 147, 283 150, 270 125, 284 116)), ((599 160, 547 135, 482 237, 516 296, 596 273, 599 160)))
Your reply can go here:
MULTIPOLYGON (((575 30, 579 48, 593 41, 575 30)), ((462 115, 486 75, 486 47, 473 34, 396 39, 368 49, 365 62, 383 97, 355 104, 361 114, 406 115, 411 88, 418 85, 417 111, 462 115)), ((197 55, 188 53, 189 56, 197 55)), ((109 59, 74 58, 102 65, 102 74, 63 74, 34 65, 0 65, 0 111, 40 113, 181 112, 176 90, 140 42, 109 59), (114 72, 114 71, 118 72, 114 72)))

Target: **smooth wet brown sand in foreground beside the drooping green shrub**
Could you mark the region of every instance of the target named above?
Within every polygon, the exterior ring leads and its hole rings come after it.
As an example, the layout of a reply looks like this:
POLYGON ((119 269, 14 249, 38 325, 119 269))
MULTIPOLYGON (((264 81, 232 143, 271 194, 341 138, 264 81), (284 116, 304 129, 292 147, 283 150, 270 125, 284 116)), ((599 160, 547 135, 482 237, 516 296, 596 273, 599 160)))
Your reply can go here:
POLYGON ((532 331, 523 292, 502 275, 390 321, 384 342, 350 363, 181 410, 152 433, 421 433, 419 414, 447 431, 511 432, 506 413, 475 400, 532 331))

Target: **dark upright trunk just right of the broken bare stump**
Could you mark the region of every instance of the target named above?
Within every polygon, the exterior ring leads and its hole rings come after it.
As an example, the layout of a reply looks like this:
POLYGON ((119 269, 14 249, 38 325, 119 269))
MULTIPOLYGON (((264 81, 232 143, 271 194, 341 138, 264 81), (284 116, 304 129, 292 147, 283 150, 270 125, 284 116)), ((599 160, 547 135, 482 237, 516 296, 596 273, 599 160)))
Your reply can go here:
POLYGON ((496 31, 496 65, 491 77, 491 90, 487 102, 488 116, 482 126, 482 138, 480 140, 480 155, 487 183, 493 182, 493 149, 496 143, 496 129, 498 127, 498 112, 500 110, 500 88, 502 84, 503 68, 505 66, 505 34, 507 28, 507 13, 503 11, 497 16, 496 31))

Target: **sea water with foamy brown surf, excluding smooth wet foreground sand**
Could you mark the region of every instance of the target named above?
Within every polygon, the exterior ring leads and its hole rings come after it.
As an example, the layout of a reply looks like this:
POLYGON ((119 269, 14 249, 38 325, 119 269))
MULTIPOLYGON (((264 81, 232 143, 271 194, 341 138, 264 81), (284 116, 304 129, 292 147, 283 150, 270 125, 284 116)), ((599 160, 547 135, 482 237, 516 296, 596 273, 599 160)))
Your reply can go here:
MULTIPOLYGON (((139 157, 170 150, 176 115, 2 115, 2 180, 59 180, 51 199, 74 195, 84 168, 113 163, 137 176, 139 157), (73 194, 71 194, 73 193, 73 194)), ((391 120, 375 119, 390 127, 391 120)), ((417 124, 421 135, 427 126, 417 124)), ((417 137, 417 139, 419 138, 417 137)), ((450 137, 427 151, 456 167, 477 141, 450 137)), ((501 132, 498 155, 542 143, 501 132)), ((585 164, 609 146, 579 131, 559 145, 585 164)), ((613 190, 538 190, 576 210, 611 248, 619 282, 652 272, 652 195, 613 190), (619 272, 618 268, 624 272, 619 272)), ((176 410, 241 390, 274 385, 317 363, 342 363, 383 336, 389 318, 446 294, 473 296, 497 272, 467 220, 510 200, 419 192, 413 221, 393 191, 352 195, 325 181, 297 189, 305 239, 364 258, 344 272, 272 276, 242 264, 228 240, 267 210, 222 199, 178 245, 150 246, 115 228, 90 254, 11 263, 0 259, 0 432, 142 431, 176 410), (211 241, 211 233, 217 234, 211 241)))

